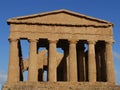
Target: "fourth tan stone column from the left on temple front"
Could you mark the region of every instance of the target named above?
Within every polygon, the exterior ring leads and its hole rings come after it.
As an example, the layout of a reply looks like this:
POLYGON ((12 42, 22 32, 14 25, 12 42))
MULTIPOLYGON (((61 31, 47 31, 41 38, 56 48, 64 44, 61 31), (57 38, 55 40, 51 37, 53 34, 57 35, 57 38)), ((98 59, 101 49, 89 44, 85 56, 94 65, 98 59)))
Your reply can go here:
POLYGON ((76 57, 76 41, 70 41, 69 46, 69 80, 77 82, 77 57, 76 57))

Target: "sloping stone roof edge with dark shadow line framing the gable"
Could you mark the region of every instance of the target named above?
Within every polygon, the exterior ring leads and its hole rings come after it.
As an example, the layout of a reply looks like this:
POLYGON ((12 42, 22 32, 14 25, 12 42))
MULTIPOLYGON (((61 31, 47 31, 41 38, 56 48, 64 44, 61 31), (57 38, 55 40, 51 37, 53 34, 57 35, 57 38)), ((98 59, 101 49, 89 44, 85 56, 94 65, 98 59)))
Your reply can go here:
MULTIPOLYGON (((91 16, 87 16, 84 14, 79 14, 70 10, 66 10, 66 9, 60 9, 60 10, 55 10, 55 11, 51 11, 51 12, 44 12, 44 13, 38 13, 38 14, 32 14, 32 15, 27 15, 27 16, 20 16, 20 17, 15 17, 15 18, 10 18, 7 20, 8 25, 9 24, 15 24, 15 23, 22 23, 21 20, 26 20, 29 18, 35 18, 35 17, 43 17, 43 16, 47 16, 47 15, 51 15, 51 14, 58 14, 58 13, 67 13, 70 15, 73 15, 75 17, 82 17, 91 21, 95 21, 95 22, 100 22, 103 24, 107 24, 109 26, 113 26, 113 24, 111 22, 105 21, 105 20, 101 20, 98 18, 93 18, 91 16)), ((106 26, 106 25, 105 25, 106 26)))

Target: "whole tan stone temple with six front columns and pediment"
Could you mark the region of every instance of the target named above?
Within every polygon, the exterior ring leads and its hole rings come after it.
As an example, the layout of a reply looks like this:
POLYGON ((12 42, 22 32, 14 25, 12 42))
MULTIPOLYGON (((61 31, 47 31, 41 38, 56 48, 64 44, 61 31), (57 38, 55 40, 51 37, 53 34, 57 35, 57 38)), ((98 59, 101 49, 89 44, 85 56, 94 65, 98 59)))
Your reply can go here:
POLYGON ((11 18, 7 23, 10 57, 3 90, 120 90, 115 85, 112 23, 68 10, 11 18), (29 42, 27 60, 20 40, 29 42))

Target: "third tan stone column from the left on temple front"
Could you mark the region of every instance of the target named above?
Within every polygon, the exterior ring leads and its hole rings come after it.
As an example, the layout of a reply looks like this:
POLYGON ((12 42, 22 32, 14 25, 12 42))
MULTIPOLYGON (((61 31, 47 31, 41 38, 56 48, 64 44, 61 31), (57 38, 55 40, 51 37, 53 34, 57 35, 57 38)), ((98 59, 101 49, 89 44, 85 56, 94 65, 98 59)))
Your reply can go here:
POLYGON ((56 42, 54 40, 49 41, 49 61, 48 61, 48 81, 57 81, 56 71, 56 42))

